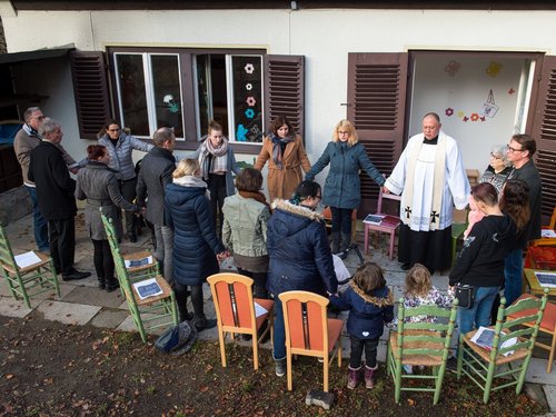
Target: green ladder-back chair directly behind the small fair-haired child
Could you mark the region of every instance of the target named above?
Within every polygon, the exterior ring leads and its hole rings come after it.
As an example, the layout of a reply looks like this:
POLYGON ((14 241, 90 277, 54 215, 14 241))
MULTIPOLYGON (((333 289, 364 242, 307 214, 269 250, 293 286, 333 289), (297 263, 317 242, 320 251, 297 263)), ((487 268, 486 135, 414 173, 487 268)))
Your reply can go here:
POLYGON ((451 309, 446 309, 439 306, 405 308, 404 299, 399 299, 398 329, 390 331, 386 359, 387 373, 394 378, 394 398, 397 404, 400 401, 401 391, 435 393, 433 401, 435 405, 438 403, 456 315, 457 300, 454 301, 451 309), (406 322, 406 319, 421 315, 437 317, 439 320, 437 322, 406 322), (430 367, 431 374, 403 374, 403 365, 430 367), (434 387, 423 386, 423 384, 406 386, 404 381, 409 379, 433 380, 435 385, 434 387))

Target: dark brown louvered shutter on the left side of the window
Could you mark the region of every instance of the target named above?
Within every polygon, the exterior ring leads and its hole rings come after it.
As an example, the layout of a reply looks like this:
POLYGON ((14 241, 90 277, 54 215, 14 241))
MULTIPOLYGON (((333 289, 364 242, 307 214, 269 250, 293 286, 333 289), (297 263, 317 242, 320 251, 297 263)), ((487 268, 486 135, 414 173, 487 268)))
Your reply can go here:
POLYGON ((97 139, 110 118, 108 78, 102 52, 72 51, 71 73, 81 139, 97 139))

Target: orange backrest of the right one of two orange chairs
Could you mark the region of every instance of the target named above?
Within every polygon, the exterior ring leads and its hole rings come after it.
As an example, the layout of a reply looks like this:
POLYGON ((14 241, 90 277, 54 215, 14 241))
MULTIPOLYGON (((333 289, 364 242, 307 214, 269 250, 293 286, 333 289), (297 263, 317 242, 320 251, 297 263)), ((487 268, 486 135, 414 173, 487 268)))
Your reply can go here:
POLYGON ((286 345, 296 353, 328 353, 327 298, 309 291, 287 291, 278 296, 282 302, 286 345))

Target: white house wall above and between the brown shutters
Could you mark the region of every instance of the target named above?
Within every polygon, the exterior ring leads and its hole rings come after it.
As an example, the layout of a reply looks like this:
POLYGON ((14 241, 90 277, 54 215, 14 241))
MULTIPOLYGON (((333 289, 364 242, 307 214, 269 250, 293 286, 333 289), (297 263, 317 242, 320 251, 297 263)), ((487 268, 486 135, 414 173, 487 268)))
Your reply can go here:
MULTIPOLYGON (((556 48, 555 11, 141 10, 16 14, 8 1, 0 0, 0 14, 10 52, 73 42, 81 50, 125 44, 252 47, 266 48, 269 53, 304 54, 306 143, 311 160, 330 140, 335 123, 346 117, 346 107, 340 103, 347 99, 348 52, 430 49, 550 54, 556 48)), ((67 135, 77 136, 77 121, 64 128, 67 135)), ((67 147, 77 151, 82 142, 67 147)))

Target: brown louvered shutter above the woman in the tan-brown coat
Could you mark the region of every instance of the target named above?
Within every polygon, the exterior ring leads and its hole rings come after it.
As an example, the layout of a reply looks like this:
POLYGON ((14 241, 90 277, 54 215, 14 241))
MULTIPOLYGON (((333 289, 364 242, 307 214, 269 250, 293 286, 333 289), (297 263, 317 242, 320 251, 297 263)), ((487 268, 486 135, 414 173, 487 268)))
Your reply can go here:
POLYGON ((305 60, 302 56, 265 56, 265 123, 286 116, 305 139, 305 60))

